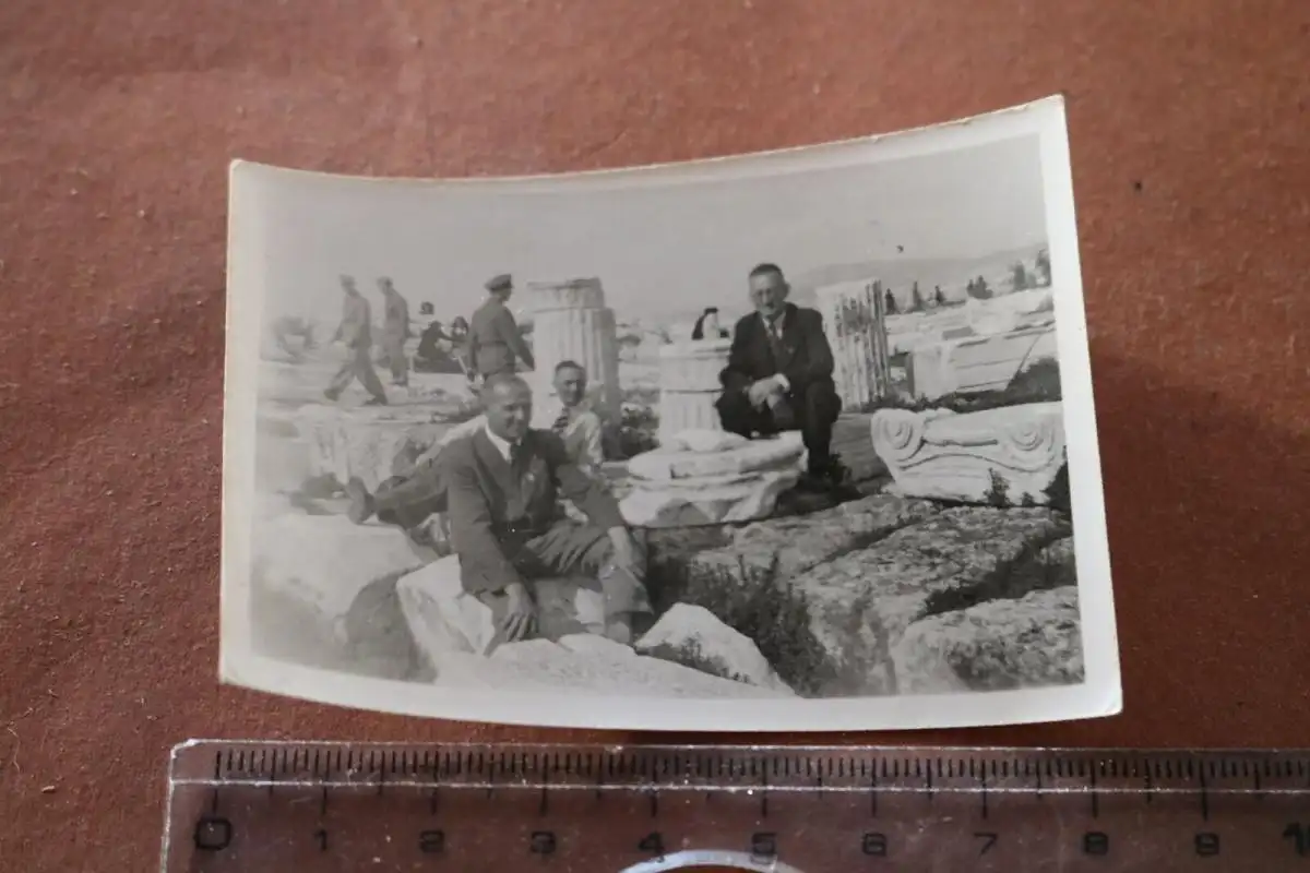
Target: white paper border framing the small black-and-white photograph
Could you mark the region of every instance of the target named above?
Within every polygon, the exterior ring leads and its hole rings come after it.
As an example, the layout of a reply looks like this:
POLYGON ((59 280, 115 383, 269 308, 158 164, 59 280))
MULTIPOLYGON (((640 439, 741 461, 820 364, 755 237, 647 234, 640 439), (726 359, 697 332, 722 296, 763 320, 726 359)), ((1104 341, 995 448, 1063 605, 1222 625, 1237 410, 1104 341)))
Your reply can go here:
POLYGON ((1064 97, 931 127, 772 152, 584 173, 468 179, 346 177, 233 161, 229 188, 227 360, 224 368, 220 681, 341 707, 458 721, 546 728, 696 732, 904 730, 1068 721, 1123 711, 1104 493, 1064 97), (287 664, 259 654, 252 639, 250 577, 255 495, 255 415, 265 288, 272 229, 261 200, 279 182, 324 185, 506 187, 586 191, 698 179, 749 179, 779 171, 867 165, 997 140, 1038 136, 1069 458, 1074 558, 1085 681, 1013 691, 886 698, 705 699, 625 698, 566 688, 483 691, 377 679, 287 664), (303 181, 301 181, 303 183, 303 181), (317 183, 317 182, 316 182, 317 183), (559 705, 562 692, 567 705, 559 705))

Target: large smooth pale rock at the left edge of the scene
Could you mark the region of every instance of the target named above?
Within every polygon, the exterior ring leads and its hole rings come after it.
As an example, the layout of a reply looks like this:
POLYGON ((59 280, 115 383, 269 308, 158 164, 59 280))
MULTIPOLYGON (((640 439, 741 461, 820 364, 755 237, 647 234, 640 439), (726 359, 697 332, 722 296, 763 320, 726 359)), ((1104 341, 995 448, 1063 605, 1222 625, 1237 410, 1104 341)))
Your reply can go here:
POLYGON ((343 516, 276 512, 257 521, 253 577, 257 585, 304 605, 346 639, 351 605, 373 581, 424 561, 396 527, 354 525, 343 516))

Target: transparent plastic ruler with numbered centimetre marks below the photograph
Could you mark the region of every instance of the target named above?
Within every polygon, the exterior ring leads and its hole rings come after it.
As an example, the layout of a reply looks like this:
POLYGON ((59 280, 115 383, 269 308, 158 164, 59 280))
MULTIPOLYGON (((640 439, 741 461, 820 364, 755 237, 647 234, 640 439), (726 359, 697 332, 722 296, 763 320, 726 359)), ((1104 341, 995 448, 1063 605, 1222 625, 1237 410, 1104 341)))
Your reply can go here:
POLYGON ((165 873, 1310 872, 1310 751, 203 741, 165 873))

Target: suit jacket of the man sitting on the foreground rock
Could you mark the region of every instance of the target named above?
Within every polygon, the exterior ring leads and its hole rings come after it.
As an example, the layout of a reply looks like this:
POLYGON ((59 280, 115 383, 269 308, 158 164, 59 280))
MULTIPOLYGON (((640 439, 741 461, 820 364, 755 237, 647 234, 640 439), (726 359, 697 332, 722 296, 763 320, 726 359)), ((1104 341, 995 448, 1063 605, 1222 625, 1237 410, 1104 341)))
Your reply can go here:
POLYGON ((558 521, 558 495, 597 527, 625 526, 613 496, 569 462, 559 437, 549 431, 528 431, 517 470, 510 469, 481 429, 447 446, 440 467, 451 539, 460 555, 464 589, 470 593, 523 581, 514 565, 515 551, 558 521))

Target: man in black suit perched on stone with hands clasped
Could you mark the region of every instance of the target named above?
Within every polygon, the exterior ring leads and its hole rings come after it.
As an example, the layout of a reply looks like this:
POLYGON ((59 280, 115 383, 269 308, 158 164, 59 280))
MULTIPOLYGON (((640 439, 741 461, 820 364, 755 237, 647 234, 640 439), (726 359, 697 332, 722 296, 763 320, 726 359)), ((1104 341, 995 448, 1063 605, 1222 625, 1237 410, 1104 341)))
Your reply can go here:
POLYGON ((748 438, 799 429, 810 453, 808 483, 837 484, 841 467, 832 455, 832 427, 841 398, 823 317, 787 302, 790 287, 777 264, 757 266, 749 284, 755 312, 738 321, 719 376, 723 429, 748 438))

